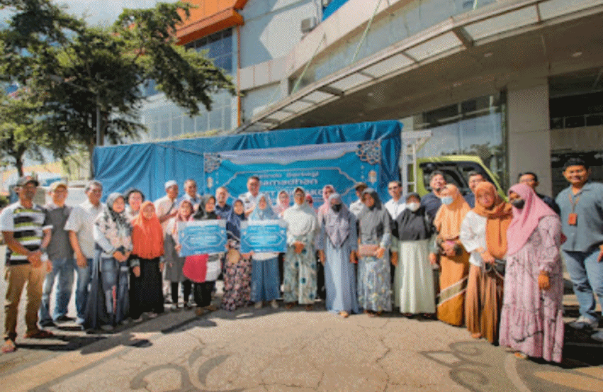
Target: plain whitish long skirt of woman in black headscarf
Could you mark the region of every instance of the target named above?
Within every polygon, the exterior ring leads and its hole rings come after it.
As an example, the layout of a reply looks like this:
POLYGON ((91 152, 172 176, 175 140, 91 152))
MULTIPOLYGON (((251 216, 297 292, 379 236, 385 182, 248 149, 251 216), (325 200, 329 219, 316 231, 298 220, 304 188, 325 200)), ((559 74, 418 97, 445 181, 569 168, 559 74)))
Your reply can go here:
POLYGON ((394 302, 400 313, 436 313, 429 240, 400 241, 394 302))

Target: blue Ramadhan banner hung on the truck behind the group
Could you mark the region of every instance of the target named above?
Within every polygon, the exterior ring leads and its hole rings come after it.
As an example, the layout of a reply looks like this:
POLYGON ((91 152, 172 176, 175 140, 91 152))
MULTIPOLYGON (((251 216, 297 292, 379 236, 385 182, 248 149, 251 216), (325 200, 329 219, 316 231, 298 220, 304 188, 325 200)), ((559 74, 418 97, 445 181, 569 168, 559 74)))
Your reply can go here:
POLYGON ((317 208, 322 187, 332 184, 349 205, 356 200, 357 182, 376 186, 381 178, 381 140, 206 153, 204 161, 208 193, 226 186, 236 197, 247 191, 247 179, 257 176, 260 191, 273 203, 283 190, 293 200, 293 190, 301 186, 317 208))

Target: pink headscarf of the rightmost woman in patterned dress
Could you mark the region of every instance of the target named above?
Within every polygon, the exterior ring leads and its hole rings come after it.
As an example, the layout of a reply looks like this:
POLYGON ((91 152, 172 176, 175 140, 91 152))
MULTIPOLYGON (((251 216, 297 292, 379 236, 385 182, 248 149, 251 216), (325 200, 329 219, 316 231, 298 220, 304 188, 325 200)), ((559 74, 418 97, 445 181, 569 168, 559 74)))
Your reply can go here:
POLYGON ((526 184, 515 184, 509 189, 509 194, 511 192, 521 196, 525 204, 521 210, 513 207, 513 220, 511 220, 509 229, 507 229, 508 254, 514 254, 526 245, 530 235, 534 233, 542 218, 548 215, 557 215, 526 184))

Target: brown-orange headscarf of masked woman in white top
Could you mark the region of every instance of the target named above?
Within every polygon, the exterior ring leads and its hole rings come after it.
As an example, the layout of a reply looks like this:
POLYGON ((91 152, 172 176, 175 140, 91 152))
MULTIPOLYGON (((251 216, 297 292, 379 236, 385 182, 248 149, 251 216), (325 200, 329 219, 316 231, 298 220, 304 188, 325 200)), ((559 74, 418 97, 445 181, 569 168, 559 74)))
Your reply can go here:
POLYGON ((512 206, 498 196, 495 186, 483 181, 475 188, 475 208, 473 212, 486 218, 486 247, 488 252, 497 259, 507 254, 507 229, 513 218, 512 206), (490 194, 494 204, 485 208, 479 202, 483 194, 490 194))

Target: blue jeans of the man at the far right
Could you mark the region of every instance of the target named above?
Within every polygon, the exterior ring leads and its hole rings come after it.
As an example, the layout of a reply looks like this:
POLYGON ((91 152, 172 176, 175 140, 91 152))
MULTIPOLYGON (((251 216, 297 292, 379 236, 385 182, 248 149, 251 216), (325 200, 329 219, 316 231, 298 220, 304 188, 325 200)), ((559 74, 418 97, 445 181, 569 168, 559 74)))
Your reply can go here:
POLYGON ((599 298, 603 306, 603 262, 597 262, 599 247, 590 252, 567 252, 563 251, 565 265, 574 284, 574 293, 580 304, 580 315, 599 320, 594 312, 597 302, 594 295, 599 298))

